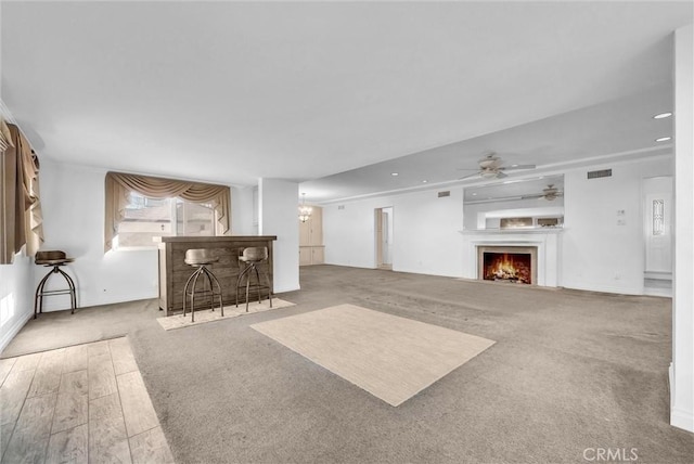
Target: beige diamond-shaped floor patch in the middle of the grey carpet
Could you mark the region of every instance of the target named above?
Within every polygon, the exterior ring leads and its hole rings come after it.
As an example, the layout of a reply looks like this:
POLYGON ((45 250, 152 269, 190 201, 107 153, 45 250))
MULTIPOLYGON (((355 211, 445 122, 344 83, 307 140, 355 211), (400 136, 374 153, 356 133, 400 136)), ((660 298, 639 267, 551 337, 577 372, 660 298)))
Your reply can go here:
POLYGON ((352 305, 250 326, 394 407, 494 344, 352 305))

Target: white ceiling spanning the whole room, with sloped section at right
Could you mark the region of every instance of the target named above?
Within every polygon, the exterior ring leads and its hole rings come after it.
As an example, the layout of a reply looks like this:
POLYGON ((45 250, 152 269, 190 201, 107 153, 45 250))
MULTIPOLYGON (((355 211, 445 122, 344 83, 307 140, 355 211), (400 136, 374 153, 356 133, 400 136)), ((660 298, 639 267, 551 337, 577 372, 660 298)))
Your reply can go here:
POLYGON ((487 150, 540 171, 656 153, 692 23, 689 1, 0 9, 0 96, 40 156, 313 202, 450 184, 487 150))

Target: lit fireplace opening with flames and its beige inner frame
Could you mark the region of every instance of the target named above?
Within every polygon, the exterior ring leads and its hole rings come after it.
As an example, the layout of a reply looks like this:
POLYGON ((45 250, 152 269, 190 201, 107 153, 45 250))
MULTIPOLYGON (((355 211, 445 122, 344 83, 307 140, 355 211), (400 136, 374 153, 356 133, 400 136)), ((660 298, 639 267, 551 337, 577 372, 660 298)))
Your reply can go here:
POLYGON ((478 279, 537 285, 537 246, 478 246, 478 279))

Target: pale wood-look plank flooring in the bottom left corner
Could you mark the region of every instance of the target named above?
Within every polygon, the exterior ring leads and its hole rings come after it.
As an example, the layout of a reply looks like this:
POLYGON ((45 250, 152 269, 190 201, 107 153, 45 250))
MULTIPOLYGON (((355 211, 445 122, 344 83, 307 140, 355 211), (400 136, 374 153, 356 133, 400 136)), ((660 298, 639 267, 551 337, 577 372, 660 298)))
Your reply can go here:
POLYGON ((128 339, 0 360, 1 463, 172 463, 128 339))

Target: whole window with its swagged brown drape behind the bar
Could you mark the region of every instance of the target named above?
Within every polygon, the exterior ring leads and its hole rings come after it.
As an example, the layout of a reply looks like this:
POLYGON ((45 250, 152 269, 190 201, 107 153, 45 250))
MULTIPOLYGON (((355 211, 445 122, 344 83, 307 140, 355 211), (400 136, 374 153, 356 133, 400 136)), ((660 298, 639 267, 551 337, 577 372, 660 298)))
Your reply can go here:
POLYGON ((152 246, 155 236, 230 233, 226 185, 108 172, 104 250, 152 246))

